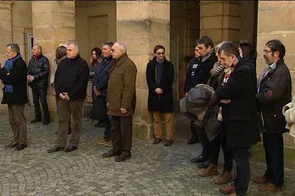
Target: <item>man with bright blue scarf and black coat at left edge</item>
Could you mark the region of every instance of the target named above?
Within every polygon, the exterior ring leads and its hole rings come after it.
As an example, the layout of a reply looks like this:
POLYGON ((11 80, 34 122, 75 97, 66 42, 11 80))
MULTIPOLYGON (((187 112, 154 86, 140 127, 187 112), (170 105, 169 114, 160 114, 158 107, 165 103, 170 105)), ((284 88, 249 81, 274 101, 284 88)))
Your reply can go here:
POLYGON ((9 123, 14 141, 5 148, 22 150, 27 147, 27 121, 25 104, 27 97, 27 65, 17 44, 6 46, 7 60, 0 69, 0 79, 4 83, 2 104, 8 104, 9 123))

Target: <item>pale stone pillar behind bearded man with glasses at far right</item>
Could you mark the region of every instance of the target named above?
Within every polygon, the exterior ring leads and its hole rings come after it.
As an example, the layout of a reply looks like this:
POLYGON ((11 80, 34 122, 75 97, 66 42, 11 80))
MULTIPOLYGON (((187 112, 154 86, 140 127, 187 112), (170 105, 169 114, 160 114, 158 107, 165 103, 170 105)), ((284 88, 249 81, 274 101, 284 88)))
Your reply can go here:
MULTIPOLYGON (((292 81, 295 81, 295 1, 258 1, 257 23, 257 73, 260 75, 266 67, 262 51, 267 41, 280 40, 286 48, 285 63, 290 69, 292 81)), ((295 93, 294 84, 292 94, 295 93)), ((295 146, 295 140, 284 134, 284 144, 295 146)))

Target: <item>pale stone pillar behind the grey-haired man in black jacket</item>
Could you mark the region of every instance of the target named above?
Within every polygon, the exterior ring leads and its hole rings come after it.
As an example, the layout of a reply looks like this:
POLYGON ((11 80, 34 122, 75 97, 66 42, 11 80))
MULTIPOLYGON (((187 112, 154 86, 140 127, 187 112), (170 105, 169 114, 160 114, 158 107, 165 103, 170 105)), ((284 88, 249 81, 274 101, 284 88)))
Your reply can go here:
MULTIPOLYGON (((75 1, 31 1, 34 44, 42 46, 50 66, 60 43, 75 41, 75 1)), ((47 102, 52 120, 57 120, 55 97, 48 88, 47 102)))

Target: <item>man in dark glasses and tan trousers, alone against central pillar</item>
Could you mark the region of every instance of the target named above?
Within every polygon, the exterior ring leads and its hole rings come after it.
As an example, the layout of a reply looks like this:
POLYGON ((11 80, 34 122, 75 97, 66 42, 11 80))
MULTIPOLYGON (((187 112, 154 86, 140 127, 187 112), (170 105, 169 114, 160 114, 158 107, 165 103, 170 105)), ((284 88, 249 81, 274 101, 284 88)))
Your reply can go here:
POLYGON ((173 81, 174 66, 165 58, 165 48, 154 47, 154 58, 147 66, 148 111, 152 112, 155 139, 153 144, 162 140, 162 116, 166 123, 166 141, 164 146, 171 146, 173 133, 173 81))

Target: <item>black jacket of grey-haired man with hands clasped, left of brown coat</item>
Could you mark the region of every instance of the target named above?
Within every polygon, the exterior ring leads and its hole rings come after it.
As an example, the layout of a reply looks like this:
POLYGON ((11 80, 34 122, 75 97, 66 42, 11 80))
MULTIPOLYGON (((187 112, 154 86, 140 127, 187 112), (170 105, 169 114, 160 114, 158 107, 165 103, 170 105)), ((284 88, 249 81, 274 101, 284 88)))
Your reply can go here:
POLYGON ((63 59, 57 69, 54 83, 57 95, 68 93, 70 100, 85 99, 89 78, 87 62, 79 55, 63 59))

